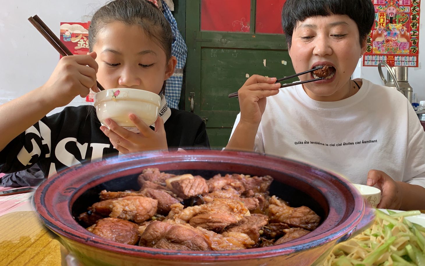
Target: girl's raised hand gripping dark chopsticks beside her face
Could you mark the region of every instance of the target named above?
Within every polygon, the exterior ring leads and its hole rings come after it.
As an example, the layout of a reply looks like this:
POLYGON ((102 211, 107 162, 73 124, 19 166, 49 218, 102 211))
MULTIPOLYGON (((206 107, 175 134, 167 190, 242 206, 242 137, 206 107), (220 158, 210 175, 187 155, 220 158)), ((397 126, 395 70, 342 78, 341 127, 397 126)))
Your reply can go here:
POLYGON ((49 80, 41 86, 40 93, 53 107, 65 106, 75 97, 86 97, 92 89, 98 92, 96 53, 64 56, 59 60, 49 80))

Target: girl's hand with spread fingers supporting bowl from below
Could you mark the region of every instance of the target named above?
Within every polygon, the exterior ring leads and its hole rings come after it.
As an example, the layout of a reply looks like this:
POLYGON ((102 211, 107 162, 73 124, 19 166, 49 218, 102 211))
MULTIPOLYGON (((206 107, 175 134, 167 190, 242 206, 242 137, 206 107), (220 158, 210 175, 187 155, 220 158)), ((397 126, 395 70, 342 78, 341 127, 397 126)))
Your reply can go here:
POLYGON ((140 134, 131 132, 121 126, 118 126, 113 120, 106 119, 105 123, 109 126, 101 126, 102 132, 109 137, 115 149, 121 153, 128 154, 133 152, 142 152, 149 150, 168 149, 167 137, 165 135, 164 121, 158 117, 155 121, 155 131, 150 129, 135 114, 128 116, 134 125, 139 129, 140 134))

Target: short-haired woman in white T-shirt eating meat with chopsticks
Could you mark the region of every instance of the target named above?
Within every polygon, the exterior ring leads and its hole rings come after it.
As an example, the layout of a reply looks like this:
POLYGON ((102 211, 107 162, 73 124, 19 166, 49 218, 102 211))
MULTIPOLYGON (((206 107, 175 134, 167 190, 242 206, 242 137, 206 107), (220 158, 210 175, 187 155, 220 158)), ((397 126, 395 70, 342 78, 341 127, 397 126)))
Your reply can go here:
MULTIPOLYGON (((226 149, 302 160, 378 186, 379 208, 425 209, 425 132, 394 89, 351 80, 374 23, 370 0, 287 0, 282 25, 295 72, 329 65, 325 80, 279 89, 254 75, 226 149)), ((309 80, 314 74, 300 76, 309 80)))

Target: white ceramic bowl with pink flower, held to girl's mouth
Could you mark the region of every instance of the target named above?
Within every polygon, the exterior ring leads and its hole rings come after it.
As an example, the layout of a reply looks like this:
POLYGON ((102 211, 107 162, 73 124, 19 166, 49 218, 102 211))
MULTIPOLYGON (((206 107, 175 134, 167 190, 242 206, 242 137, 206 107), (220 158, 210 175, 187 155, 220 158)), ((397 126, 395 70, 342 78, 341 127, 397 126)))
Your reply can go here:
POLYGON ((161 97, 153 92, 139 89, 108 89, 96 93, 94 107, 100 123, 107 126, 106 118, 133 132, 138 129, 128 115, 136 114, 148 126, 158 117, 161 97))

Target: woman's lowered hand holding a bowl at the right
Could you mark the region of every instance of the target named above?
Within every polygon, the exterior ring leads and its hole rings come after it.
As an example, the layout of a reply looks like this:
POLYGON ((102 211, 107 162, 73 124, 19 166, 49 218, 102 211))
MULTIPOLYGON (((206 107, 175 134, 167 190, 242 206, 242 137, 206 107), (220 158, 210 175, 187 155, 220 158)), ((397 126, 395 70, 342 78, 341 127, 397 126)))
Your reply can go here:
POLYGON ((398 182, 394 181, 388 174, 379 170, 368 172, 368 186, 377 187, 382 191, 381 201, 377 208, 398 210, 402 206, 402 190, 398 182))

